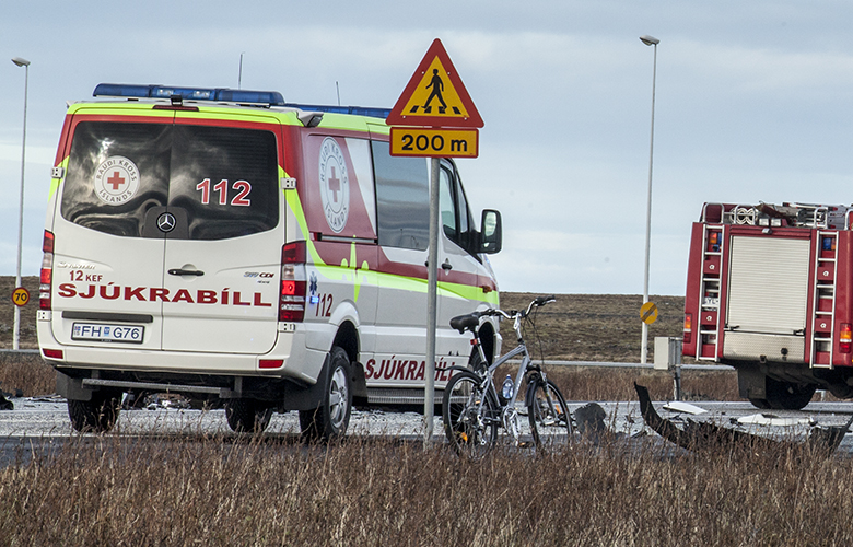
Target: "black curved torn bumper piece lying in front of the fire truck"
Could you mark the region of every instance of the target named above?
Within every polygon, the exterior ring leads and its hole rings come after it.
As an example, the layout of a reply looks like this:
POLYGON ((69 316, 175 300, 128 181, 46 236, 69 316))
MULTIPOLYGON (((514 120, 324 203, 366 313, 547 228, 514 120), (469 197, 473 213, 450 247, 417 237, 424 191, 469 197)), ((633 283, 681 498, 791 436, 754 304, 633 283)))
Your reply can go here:
MULTIPOLYGON (((774 446, 780 444, 790 444, 785 441, 774 441, 767 437, 755 435, 734 429, 722 428, 713 423, 696 422, 687 419, 683 429, 678 428, 671 421, 662 418, 652 404, 648 396, 648 389, 645 386, 634 382, 634 389, 640 400, 640 412, 643 415, 645 423, 654 432, 682 449, 696 451, 706 450, 714 446, 774 446)), ((825 450, 831 454, 838 449, 850 426, 853 424, 853 416, 844 426, 828 428, 814 428, 809 435, 807 444, 818 450, 825 450)))

